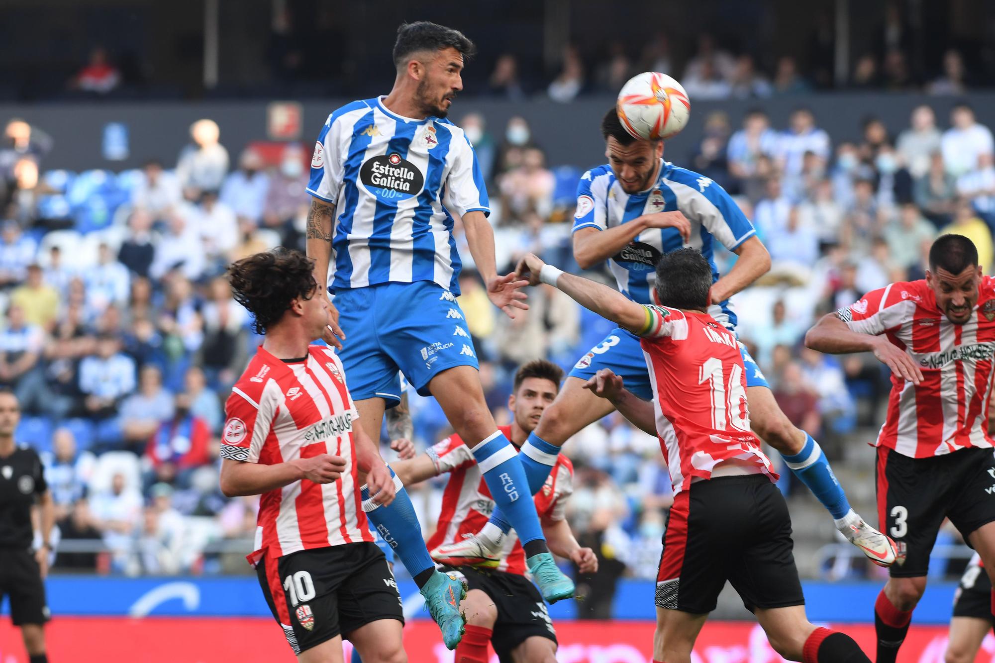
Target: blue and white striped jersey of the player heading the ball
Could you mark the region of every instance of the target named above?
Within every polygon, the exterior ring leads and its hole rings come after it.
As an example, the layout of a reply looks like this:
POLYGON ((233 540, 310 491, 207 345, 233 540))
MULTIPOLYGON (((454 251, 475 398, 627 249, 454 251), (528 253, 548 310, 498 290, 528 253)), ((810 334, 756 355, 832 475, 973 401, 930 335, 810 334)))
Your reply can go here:
MULTIPOLYGON (((573 232, 581 228, 606 230, 643 214, 680 210, 691 222, 691 242, 711 264, 712 282, 718 281, 713 248, 715 241, 732 250, 756 234, 725 190, 713 181, 687 168, 664 161, 652 187, 628 194, 615 179, 610 165, 584 173, 577 186, 577 212, 573 232)), ((685 246, 675 228, 649 228, 609 260, 609 268, 619 290, 639 304, 656 304, 655 265, 660 256, 685 246)), ((708 313, 725 325, 735 327, 736 316, 728 300, 717 302, 708 313)))

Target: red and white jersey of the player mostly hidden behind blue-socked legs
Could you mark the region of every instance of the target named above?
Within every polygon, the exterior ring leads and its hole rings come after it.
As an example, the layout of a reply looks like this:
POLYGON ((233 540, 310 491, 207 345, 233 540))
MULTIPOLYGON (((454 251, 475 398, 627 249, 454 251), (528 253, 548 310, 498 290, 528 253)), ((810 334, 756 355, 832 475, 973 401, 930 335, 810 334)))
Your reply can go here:
MULTIPOLYGON (((504 436, 511 439, 511 427, 499 426, 504 436)), ((459 435, 451 435, 426 452, 435 463, 436 475, 449 472, 449 483, 442 496, 442 514, 439 524, 428 541, 431 551, 439 546, 463 541, 465 535, 476 534, 487 524, 495 502, 491 498, 484 475, 481 474, 474 453, 459 435)), ((573 464, 570 459, 559 454, 546 483, 535 497, 535 511, 539 520, 546 522, 562 521, 565 516, 566 500, 573 494, 573 464)), ((525 552, 517 535, 512 530, 504 539, 498 570, 524 575, 526 572, 525 552)))

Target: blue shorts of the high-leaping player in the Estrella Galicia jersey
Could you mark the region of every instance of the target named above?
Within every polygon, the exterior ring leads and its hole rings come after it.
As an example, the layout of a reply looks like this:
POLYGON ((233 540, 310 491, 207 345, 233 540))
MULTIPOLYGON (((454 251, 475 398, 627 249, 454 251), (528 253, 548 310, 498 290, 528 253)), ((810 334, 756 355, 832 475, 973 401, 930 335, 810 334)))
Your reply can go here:
POLYGON ((463 311, 431 281, 385 283, 335 291, 345 332, 338 356, 354 400, 401 400, 398 370, 422 396, 429 381, 454 366, 479 368, 463 311))

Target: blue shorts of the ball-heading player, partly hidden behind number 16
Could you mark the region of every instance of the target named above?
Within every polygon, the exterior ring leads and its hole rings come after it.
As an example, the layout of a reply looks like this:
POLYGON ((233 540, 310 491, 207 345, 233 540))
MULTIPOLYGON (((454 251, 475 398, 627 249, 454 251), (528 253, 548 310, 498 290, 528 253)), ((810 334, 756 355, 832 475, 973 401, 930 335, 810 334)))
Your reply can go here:
MULTIPOLYGON (((580 357, 570 371, 570 377, 587 380, 599 369, 611 368, 616 375, 622 377, 629 391, 643 400, 653 400, 653 385, 650 384, 650 372, 646 368, 646 355, 639 341, 639 336, 632 331, 615 328, 604 340, 580 357)), ((769 389, 770 385, 767 384, 763 371, 742 343, 739 343, 739 354, 742 355, 746 368, 746 386, 763 386, 769 389)))

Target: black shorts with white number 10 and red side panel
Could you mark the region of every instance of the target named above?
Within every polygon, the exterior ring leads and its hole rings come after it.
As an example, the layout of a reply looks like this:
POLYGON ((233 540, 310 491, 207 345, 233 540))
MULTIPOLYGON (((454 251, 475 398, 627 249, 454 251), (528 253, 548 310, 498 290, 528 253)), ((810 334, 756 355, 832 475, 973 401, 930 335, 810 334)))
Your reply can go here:
POLYGON ((376 544, 264 557, 256 573, 295 654, 378 619, 404 623, 394 574, 376 544))

